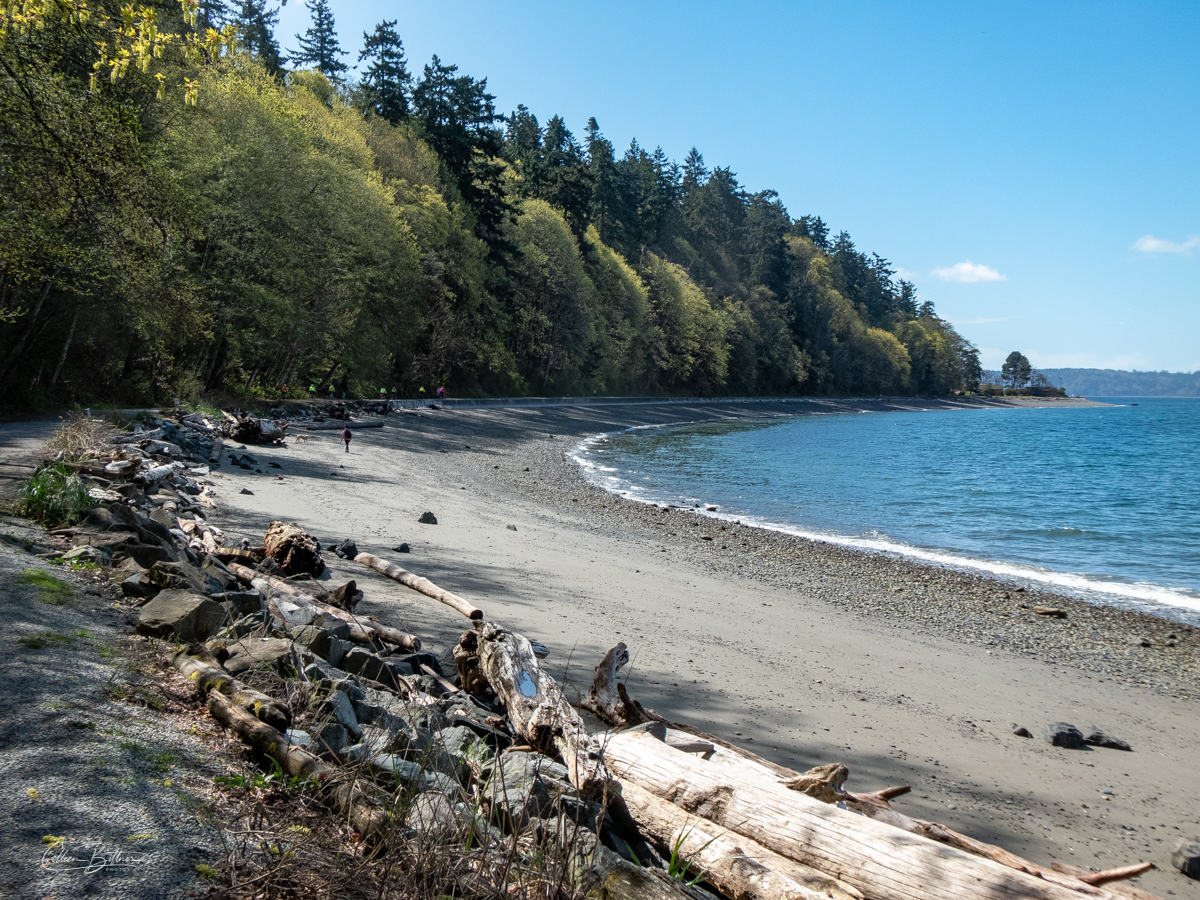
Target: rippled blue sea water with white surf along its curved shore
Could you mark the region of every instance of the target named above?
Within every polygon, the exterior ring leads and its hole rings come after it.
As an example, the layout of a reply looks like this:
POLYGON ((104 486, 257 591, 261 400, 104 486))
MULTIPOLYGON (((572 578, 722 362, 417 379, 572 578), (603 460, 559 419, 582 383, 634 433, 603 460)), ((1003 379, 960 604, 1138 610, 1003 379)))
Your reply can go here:
POLYGON ((808 415, 596 436, 649 503, 1200 624, 1200 400, 808 415))

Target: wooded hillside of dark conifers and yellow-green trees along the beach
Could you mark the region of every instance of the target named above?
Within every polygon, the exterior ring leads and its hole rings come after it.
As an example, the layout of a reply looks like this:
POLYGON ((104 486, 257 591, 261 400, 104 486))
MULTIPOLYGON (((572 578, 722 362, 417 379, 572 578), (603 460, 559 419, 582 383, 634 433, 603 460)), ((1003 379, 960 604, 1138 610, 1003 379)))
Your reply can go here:
POLYGON ((265 0, 0 4, 5 406, 978 384, 820 216, 308 10, 281 42, 265 0))

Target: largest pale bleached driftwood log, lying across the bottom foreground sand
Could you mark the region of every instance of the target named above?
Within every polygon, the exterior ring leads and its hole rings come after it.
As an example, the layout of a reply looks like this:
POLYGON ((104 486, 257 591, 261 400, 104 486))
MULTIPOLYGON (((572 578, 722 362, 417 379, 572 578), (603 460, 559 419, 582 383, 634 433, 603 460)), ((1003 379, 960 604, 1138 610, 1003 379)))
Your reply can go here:
POLYGON ((623 781, 845 881, 872 900, 1115 896, 1076 880, 1058 876, 1063 883, 1055 883, 905 834, 772 779, 697 760, 644 732, 611 736, 605 757, 623 781))

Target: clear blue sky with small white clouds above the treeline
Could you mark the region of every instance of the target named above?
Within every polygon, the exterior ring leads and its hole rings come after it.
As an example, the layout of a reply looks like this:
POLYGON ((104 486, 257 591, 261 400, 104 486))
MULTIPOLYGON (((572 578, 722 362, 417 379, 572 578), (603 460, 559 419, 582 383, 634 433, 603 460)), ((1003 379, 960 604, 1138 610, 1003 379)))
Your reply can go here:
MULTIPOLYGON (((1198 2, 347 2, 503 112, 695 145, 845 228, 998 367, 1200 370, 1198 2)), ((292 0, 284 48, 308 24, 292 0)))

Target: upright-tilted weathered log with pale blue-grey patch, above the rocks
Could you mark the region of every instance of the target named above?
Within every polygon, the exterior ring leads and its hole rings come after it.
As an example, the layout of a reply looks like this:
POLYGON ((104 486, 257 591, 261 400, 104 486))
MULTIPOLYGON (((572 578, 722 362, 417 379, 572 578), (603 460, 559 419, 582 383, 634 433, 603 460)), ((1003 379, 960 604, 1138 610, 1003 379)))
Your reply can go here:
POLYGON ((503 701, 514 733, 542 752, 557 752, 580 793, 599 800, 620 796, 600 745, 588 736, 558 683, 538 665, 528 640, 493 622, 480 625, 479 666, 503 701))

